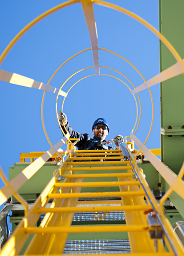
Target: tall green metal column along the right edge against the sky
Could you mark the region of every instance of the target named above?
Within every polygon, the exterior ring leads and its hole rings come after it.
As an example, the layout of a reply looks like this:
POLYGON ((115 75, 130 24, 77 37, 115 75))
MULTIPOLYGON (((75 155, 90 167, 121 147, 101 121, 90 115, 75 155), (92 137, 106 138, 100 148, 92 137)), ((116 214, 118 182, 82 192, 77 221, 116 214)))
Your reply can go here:
MULTIPOLYGON (((184 57, 184 1, 159 1, 159 30, 174 46, 181 58, 184 57)), ((160 72, 175 63, 174 57, 162 42, 160 42, 160 72)), ((162 161, 178 174, 184 156, 184 77, 179 75, 160 83, 161 108, 161 152, 162 161), (164 132, 165 131, 165 132, 164 132), (170 134, 171 132, 171 134, 170 134)), ((168 190, 168 184, 160 178, 160 189, 168 190)), ((184 191, 183 191, 184 192, 184 191)), ((169 196, 171 202, 184 218, 183 200, 176 194, 169 196)), ((169 219, 172 223, 181 217, 169 219)), ((181 218, 181 219, 182 219, 181 218)))

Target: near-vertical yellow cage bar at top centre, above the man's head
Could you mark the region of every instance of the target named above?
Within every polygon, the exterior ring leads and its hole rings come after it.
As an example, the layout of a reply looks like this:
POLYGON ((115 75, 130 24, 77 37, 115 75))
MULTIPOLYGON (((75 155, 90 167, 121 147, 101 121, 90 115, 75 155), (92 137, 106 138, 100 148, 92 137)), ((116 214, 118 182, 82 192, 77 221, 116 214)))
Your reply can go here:
POLYGON ((99 56, 98 56, 98 36, 97 36, 97 27, 95 22, 95 16, 94 16, 94 10, 93 10, 93 4, 91 0, 80 0, 82 4, 82 10, 84 13, 90 42, 91 42, 91 48, 93 52, 93 58, 94 58, 94 66, 95 66, 95 73, 96 75, 100 75, 99 70, 99 56))

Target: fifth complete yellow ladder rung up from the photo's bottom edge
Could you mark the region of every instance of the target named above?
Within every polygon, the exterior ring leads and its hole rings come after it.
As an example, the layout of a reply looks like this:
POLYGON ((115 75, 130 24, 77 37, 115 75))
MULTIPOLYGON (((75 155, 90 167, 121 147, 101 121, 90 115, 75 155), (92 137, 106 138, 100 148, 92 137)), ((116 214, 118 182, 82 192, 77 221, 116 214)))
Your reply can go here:
POLYGON ((97 177, 131 177, 134 173, 125 174, 64 174, 65 178, 97 178, 97 177))

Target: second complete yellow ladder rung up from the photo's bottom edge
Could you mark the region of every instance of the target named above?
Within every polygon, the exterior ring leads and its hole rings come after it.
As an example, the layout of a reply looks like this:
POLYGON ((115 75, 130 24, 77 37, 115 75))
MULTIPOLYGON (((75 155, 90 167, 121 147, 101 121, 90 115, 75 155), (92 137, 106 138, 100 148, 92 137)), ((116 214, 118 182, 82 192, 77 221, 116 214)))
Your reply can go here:
POLYGON ((55 208, 38 208, 34 213, 47 214, 62 212, 99 212, 99 211, 148 211, 151 210, 150 205, 125 205, 125 206, 94 206, 94 207, 55 207, 55 208))

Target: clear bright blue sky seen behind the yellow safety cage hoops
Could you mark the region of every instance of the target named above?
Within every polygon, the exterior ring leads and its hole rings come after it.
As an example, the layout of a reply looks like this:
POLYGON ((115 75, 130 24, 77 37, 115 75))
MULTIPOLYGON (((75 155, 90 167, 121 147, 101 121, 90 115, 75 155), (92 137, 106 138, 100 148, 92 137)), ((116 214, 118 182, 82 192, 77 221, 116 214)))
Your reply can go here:
MULTIPOLYGON (((45 11, 64 1, 32 0, 0 2, 0 53, 16 34, 45 11)), ((145 19, 158 28, 158 1, 111 0, 145 19)), ((146 80, 159 73, 159 40, 147 28, 134 19, 94 5, 98 31, 98 45, 116 52, 130 61, 146 80)), ((1 65, 1 69, 47 83, 56 69, 72 55, 90 48, 90 40, 80 4, 64 8, 41 20, 16 43, 1 65)), ((76 71, 93 66, 91 51, 75 57, 57 73, 50 85, 61 84, 76 71)), ((144 81, 121 58, 99 50, 99 65, 115 69, 131 80, 135 87, 144 81)), ((117 72, 100 69, 131 84, 117 72)), ((94 68, 73 76, 63 87, 67 91, 77 80, 95 74, 94 68)), ((0 164, 8 177, 8 167, 19 162, 20 153, 47 151, 50 145, 41 124, 41 100, 43 91, 15 86, 0 81, 1 87, 1 159, 0 164)), ((147 142, 148 148, 160 148, 160 99, 159 85, 151 88, 154 100, 154 122, 147 142)), ((151 124, 151 101, 148 90, 140 93, 142 117, 136 136, 145 141, 151 124)), ((61 109, 62 96, 58 100, 61 109)), ((56 95, 47 92, 44 100, 44 122, 53 144, 62 138, 55 113, 56 95)), ((90 76, 74 86, 65 99, 64 113, 74 130, 88 133, 99 117, 110 126, 107 139, 121 134, 129 136, 135 122, 135 102, 130 91, 119 80, 101 75, 90 76)), ((1 187, 3 182, 0 182, 1 187)))

